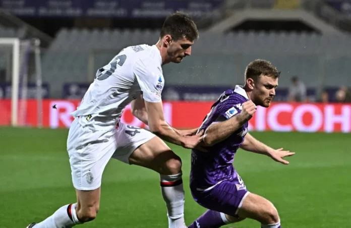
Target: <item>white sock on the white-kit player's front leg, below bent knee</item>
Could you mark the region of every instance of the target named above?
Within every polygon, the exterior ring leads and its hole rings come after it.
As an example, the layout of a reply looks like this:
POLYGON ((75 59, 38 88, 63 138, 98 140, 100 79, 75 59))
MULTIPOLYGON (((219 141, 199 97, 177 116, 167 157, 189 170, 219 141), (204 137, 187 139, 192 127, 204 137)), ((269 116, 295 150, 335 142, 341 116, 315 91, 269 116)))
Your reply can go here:
POLYGON ((160 175, 161 192, 167 206, 168 227, 187 227, 184 221, 185 193, 182 173, 177 175, 160 175))

